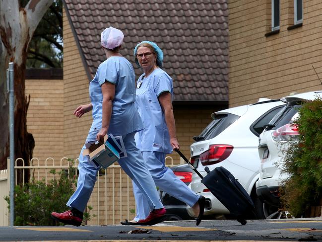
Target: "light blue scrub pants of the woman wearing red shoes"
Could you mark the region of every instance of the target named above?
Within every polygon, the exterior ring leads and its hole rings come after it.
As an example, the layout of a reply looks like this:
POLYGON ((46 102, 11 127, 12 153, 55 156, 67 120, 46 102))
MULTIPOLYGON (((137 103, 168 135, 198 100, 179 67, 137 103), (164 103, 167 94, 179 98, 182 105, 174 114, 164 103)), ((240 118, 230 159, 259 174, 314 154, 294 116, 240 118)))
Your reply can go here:
MULTIPOLYGON (((98 131, 89 132, 86 142, 95 140, 97 133, 98 131)), ((135 133, 130 133, 123 137, 128 157, 121 158, 118 162, 122 169, 132 179, 136 187, 138 187, 138 189, 141 190, 141 193, 148 199, 151 207, 155 209, 163 208, 156 187, 151 185, 154 184, 152 176, 144 165, 141 152, 135 146, 134 134, 135 133)), ((85 145, 79 155, 77 188, 66 204, 68 207, 76 208, 81 212, 86 208, 86 204, 96 182, 97 172, 100 169, 100 166, 96 166, 93 162, 89 161, 88 156, 83 156, 84 149, 85 145)))

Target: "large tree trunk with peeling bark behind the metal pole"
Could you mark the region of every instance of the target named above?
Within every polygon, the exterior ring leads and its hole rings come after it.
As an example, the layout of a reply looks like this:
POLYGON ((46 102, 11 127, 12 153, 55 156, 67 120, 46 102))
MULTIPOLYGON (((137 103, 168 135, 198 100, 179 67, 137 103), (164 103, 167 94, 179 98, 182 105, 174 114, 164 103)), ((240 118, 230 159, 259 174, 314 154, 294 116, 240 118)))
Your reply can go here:
MULTIPOLYGON (((14 63, 14 156, 29 165, 35 147, 27 132, 27 110, 30 96, 25 96, 25 69, 28 44, 53 0, 30 0, 25 8, 18 0, 0 0, 0 169, 6 168, 9 156, 9 103, 6 92, 6 69, 14 63)), ((18 163, 22 165, 22 163, 18 163)), ((18 182, 22 181, 21 172, 18 182)), ((25 173, 25 181, 29 174, 25 173)))

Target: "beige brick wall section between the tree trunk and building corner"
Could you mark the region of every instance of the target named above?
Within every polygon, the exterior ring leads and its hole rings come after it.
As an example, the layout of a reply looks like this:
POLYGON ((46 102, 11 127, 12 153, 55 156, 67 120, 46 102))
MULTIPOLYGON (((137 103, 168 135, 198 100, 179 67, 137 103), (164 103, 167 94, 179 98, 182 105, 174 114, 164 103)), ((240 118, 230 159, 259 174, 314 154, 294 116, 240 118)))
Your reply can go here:
POLYGON ((52 157, 64 156, 64 84, 63 80, 26 80, 26 95, 30 94, 27 130, 35 139, 33 157, 44 164, 52 157))

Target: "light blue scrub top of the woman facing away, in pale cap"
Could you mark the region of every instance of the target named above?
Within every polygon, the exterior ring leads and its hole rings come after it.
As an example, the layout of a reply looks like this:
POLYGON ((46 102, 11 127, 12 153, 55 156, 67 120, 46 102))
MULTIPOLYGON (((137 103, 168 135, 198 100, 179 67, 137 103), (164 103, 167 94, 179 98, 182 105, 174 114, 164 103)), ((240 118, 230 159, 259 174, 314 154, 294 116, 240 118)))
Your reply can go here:
MULTIPOLYGON (((124 57, 113 56, 101 63, 94 79, 89 84, 89 95, 93 104, 93 123, 90 132, 102 127, 103 94, 101 85, 109 81, 115 84, 112 116, 108 133, 126 136, 144 128, 135 107, 135 74, 133 66, 124 57)), ((98 130, 98 131, 97 131, 98 130)))

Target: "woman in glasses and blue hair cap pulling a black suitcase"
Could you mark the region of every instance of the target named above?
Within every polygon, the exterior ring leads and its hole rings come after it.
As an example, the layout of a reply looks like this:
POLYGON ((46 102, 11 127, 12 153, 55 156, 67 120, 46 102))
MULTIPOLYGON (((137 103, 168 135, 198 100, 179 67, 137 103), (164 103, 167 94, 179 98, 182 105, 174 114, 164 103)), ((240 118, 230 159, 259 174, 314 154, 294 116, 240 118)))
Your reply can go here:
MULTIPOLYGON (((142 41, 134 49, 135 62, 144 73, 137 80, 135 104, 145 129, 135 135, 136 146, 143 155, 155 185, 193 208, 196 225, 203 216, 205 198, 195 194, 173 171, 165 166, 165 157, 179 150, 172 109, 173 84, 163 71, 163 52, 154 42, 142 41)), ((133 182, 136 217, 130 223, 145 218, 153 204, 133 182)))

